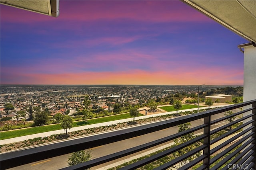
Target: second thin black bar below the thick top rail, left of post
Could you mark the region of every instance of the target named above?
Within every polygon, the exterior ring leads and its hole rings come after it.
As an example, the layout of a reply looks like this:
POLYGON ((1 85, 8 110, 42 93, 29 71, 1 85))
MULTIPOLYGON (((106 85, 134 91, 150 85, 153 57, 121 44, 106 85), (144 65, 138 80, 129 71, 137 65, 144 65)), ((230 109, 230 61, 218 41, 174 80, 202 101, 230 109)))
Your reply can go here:
POLYGON ((150 162, 158 160, 158 159, 160 159, 160 158, 162 158, 164 156, 172 154, 173 152, 176 152, 176 151, 178 151, 178 150, 180 150, 182 148, 185 148, 185 147, 187 147, 187 146, 189 146, 189 145, 191 145, 193 143, 196 143, 196 142, 204 139, 205 137, 207 137, 207 135, 198 136, 198 137, 196 137, 196 138, 194 138, 194 139, 192 139, 190 141, 187 141, 185 143, 182 143, 182 144, 180 144, 180 145, 178 145, 176 147, 170 148, 168 150, 164 150, 164 151, 162 151, 162 152, 160 152, 158 154, 150 156, 149 158, 145 158, 143 160, 140 160, 138 162, 135 162, 133 164, 130 164, 130 165, 127 165, 127 166, 125 166, 123 168, 120 168, 120 170, 132 170, 132 169, 139 168, 139 167, 144 166, 144 165, 146 165, 146 164, 148 164, 150 162))

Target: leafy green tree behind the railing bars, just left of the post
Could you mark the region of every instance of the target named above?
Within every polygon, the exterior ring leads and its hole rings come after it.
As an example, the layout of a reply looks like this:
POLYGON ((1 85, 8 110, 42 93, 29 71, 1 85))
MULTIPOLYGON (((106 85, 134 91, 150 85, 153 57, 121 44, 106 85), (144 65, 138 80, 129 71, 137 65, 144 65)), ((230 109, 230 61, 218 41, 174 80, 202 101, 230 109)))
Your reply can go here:
MULTIPOLYGON (((181 125, 178 125, 179 129, 178 132, 182 132, 182 131, 186 131, 188 129, 190 129, 191 124, 190 123, 184 123, 181 125)), ((182 143, 185 143, 187 141, 190 141, 192 139, 196 138, 196 135, 194 135, 194 133, 189 133, 187 135, 184 135, 182 137, 180 137, 179 139, 176 138, 174 139, 174 146, 178 146, 181 145, 182 143)), ((199 143, 194 143, 192 145, 189 145, 188 147, 184 147, 176 152, 174 152, 172 155, 174 156, 174 158, 178 158, 180 156, 183 156, 184 154, 186 154, 187 152, 190 152, 191 150, 195 149, 196 147, 198 147, 200 144, 199 143)), ((188 162, 191 162, 192 160, 198 158, 201 155, 200 152, 182 160, 179 164, 178 167, 175 168, 181 168, 182 166, 186 165, 188 162)))

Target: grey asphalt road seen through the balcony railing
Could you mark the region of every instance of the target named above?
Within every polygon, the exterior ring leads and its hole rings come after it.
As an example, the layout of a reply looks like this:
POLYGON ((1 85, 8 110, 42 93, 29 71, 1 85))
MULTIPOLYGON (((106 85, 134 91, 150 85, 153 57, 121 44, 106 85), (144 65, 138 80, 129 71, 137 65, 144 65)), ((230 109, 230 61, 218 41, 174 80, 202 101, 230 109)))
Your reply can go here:
MULTIPOLYGON (((237 112, 237 111, 239 111, 239 110, 234 111, 234 113, 237 112)), ((224 113, 214 115, 214 116, 212 116, 212 120, 223 117, 223 115, 224 115, 224 113)), ((203 121, 204 121, 203 119, 198 119, 196 121, 192 121, 191 125, 192 125, 192 127, 202 125, 203 121)), ((220 122, 217 125, 212 126, 212 129, 215 129, 216 127, 220 127, 220 126, 222 126, 226 123, 227 122, 225 122, 225 121, 220 122)), ((98 158, 98 157, 101 157, 101 156, 112 154, 114 152, 118 152, 118 151, 121 151, 121 150, 131 148, 131 147, 136 147, 138 145, 142 145, 144 143, 154 141, 156 139, 160 139, 160 138, 166 137, 168 135, 172 135, 172 134, 176 133, 177 131, 178 131, 178 127, 171 127, 171 128, 168 128, 168 129, 163 129, 161 131, 156 131, 154 133, 148 133, 146 135, 141 135, 141 136, 134 137, 134 138, 131 138, 131 139, 127 139, 127 140, 124 140, 124 141, 118 141, 118 142, 115 142, 115 143, 110 143, 108 145, 98 146, 98 147, 95 147, 95 148, 91 149, 92 158, 98 158)), ((197 131, 196 133, 200 133, 200 132, 202 132, 202 131, 197 131)), ((148 149, 148 150, 151 150, 151 149, 148 149)), ((118 160, 107 162, 107 163, 102 164, 100 166, 95 166, 95 167, 91 168, 91 170, 95 170, 95 169, 103 170, 104 166, 107 166, 109 164, 113 164, 115 162, 122 161, 126 158, 130 158, 131 156, 136 156, 136 155, 138 155, 142 152, 145 152, 145 151, 147 151, 147 150, 144 150, 144 151, 141 151, 139 153, 135 153, 135 154, 126 156, 124 158, 120 158, 118 160)), ((68 166, 68 164, 67 164, 68 155, 69 154, 62 155, 62 156, 57 156, 57 157, 54 157, 54 158, 49 158, 49 159, 46 159, 46 160, 41 160, 41 161, 38 161, 38 162, 33 162, 33 163, 30 163, 30 164, 26 164, 26 165, 18 166, 18 167, 15 167, 15 168, 11 168, 11 170, 35 170, 35 169, 36 170, 55 170, 55 169, 64 168, 64 167, 68 166)))

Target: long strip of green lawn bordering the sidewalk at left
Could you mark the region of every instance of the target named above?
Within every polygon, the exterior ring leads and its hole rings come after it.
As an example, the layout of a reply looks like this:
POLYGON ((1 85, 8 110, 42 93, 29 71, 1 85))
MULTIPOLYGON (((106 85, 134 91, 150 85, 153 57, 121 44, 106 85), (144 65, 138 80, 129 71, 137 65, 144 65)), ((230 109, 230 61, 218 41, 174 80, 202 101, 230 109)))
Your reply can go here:
MULTIPOLYGON (((142 116, 142 114, 139 114, 138 116, 142 116)), ((87 122, 86 121, 76 121, 76 122, 73 122, 73 127, 92 125, 95 123, 102 123, 102 122, 114 121, 114 120, 120 120, 120 119, 126 119, 126 118, 131 118, 130 113, 113 115, 113 116, 108 116, 108 117, 99 117, 96 119, 89 119, 87 122)), ((56 130, 60 130, 60 129, 62 129, 60 127, 60 124, 30 127, 30 128, 26 128, 26 129, 17 129, 17 130, 13 130, 13 131, 1 132, 0 139, 1 140, 10 139, 10 138, 14 138, 14 137, 32 135, 32 134, 36 134, 36 133, 56 131, 56 130)))

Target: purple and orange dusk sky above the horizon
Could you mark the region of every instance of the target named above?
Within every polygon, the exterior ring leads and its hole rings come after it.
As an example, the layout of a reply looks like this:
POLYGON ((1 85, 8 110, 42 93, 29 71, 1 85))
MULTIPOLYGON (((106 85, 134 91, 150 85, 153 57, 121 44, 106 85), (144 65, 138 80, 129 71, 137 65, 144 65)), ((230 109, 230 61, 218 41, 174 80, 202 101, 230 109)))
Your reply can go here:
POLYGON ((1 84, 243 85, 248 41, 180 1, 0 8, 1 84))

